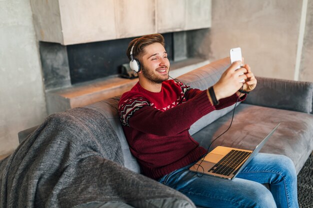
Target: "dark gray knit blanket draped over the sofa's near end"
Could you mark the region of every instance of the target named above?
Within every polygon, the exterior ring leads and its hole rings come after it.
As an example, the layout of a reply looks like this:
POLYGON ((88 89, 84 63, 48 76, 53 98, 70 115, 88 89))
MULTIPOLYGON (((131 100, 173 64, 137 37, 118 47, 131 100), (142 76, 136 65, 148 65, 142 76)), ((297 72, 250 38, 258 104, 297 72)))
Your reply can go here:
POLYGON ((0 161, 0 208, 194 207, 123 163, 102 114, 87 108, 52 114, 0 161))

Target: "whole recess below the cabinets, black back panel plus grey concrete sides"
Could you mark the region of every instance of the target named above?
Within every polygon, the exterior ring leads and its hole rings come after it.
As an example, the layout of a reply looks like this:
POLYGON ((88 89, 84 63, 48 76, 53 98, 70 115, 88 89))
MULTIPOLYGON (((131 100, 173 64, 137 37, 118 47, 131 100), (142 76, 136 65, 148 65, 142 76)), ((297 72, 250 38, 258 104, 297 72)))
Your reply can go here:
MULTIPOLYGON (((163 33, 171 69, 175 68, 175 63, 183 67, 184 63, 179 64, 183 60, 200 59, 192 62, 195 63, 207 59, 203 57, 206 56, 203 55, 203 41, 206 41, 208 32, 209 28, 163 33)), ((105 77, 120 77, 122 65, 128 66, 126 49, 133 38, 74 45, 40 41, 45 90, 67 88, 105 77)))

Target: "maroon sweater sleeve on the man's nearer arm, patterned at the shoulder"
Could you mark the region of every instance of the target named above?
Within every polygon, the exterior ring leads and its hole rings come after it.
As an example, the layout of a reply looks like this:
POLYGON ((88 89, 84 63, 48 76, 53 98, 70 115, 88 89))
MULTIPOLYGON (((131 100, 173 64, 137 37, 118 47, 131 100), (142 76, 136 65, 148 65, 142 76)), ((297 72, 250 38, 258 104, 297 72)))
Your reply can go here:
POLYGON ((166 111, 150 107, 147 102, 129 100, 119 107, 119 116, 124 126, 147 134, 171 136, 190 128, 195 121, 213 110, 215 107, 210 104, 206 92, 201 91, 187 102, 166 111))

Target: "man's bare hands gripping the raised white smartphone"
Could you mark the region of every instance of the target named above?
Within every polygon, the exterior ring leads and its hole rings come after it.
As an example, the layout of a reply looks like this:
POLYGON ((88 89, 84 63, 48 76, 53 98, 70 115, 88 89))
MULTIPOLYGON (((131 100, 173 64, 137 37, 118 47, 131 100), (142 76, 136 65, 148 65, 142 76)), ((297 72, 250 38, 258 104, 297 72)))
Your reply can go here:
POLYGON ((233 62, 230 65, 230 67, 226 71, 224 71, 224 73, 221 75, 220 79, 216 82, 216 84, 213 85, 213 89, 217 100, 233 95, 244 84, 245 88, 243 88, 243 90, 254 89, 256 85, 256 79, 254 75, 251 73, 250 67, 248 65, 244 65, 243 67, 236 70, 236 68, 241 64, 242 64, 241 61, 233 62), (245 80, 248 79, 248 76, 249 80, 248 82, 245 83, 245 80), (244 84, 242 80, 244 80, 244 84))

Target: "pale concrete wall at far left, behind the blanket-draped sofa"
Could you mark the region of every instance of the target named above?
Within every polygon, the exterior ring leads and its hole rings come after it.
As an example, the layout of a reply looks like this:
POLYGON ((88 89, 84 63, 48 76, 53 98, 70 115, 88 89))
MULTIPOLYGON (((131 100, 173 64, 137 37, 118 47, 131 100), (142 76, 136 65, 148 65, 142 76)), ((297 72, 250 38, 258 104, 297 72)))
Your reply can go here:
POLYGON ((29 0, 0 0, 0 155, 46 116, 29 0))

